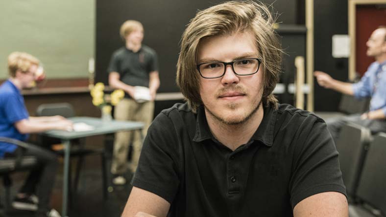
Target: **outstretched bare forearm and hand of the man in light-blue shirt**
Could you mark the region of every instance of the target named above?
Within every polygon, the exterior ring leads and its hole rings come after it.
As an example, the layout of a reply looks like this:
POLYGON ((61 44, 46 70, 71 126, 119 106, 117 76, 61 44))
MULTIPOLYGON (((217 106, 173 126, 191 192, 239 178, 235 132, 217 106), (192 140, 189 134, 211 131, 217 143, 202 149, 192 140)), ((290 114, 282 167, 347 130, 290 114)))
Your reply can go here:
POLYGON ((324 88, 333 89, 351 96, 354 95, 351 83, 333 79, 329 74, 322 71, 315 71, 314 76, 316 77, 317 83, 324 88))

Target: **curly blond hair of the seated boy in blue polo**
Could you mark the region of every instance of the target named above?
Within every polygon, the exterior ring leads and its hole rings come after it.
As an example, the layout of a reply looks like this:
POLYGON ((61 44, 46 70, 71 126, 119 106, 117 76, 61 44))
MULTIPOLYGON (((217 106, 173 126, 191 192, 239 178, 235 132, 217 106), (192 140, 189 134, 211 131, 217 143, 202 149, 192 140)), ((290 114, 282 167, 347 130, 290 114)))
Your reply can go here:
POLYGON ((20 70, 22 73, 26 73, 31 65, 39 65, 38 58, 25 52, 12 52, 8 56, 8 72, 11 77, 16 76, 16 71, 20 70))

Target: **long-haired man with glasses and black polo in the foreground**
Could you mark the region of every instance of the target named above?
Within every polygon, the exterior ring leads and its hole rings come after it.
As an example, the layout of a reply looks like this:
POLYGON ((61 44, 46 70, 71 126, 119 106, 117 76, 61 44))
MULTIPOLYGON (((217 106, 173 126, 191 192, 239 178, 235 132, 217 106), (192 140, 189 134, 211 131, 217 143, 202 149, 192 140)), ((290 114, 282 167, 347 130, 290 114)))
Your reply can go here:
POLYGON ((348 216, 326 124, 272 94, 281 62, 272 25, 252 1, 190 22, 177 64, 188 103, 150 126, 123 217, 348 216))

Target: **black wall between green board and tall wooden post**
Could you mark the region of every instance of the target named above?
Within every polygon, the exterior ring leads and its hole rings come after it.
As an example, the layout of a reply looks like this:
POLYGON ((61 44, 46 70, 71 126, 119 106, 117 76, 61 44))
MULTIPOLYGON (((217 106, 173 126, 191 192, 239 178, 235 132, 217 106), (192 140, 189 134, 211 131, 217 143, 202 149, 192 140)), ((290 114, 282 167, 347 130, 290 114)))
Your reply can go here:
MULTIPOLYGON (((107 83, 107 66, 114 50, 123 46, 121 24, 129 19, 143 23, 144 44, 158 53, 159 92, 179 91, 175 85, 181 35, 197 12, 223 0, 96 0, 96 81, 107 83)), ((304 0, 265 0, 279 14, 278 22, 304 23, 304 0), (298 12, 301 11, 301 12, 298 12)))

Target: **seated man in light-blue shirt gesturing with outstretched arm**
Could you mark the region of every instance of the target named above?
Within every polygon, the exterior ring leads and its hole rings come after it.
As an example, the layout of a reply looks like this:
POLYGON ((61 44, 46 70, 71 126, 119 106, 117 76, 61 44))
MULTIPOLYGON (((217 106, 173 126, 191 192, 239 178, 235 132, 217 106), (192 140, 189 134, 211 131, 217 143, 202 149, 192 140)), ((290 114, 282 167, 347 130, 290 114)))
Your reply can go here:
POLYGON ((355 84, 341 82, 325 72, 314 72, 318 84, 322 87, 354 95, 356 98, 371 97, 368 112, 326 120, 335 141, 341 127, 347 122, 369 128, 372 133, 386 131, 386 26, 374 30, 366 45, 367 56, 374 57, 375 62, 368 67, 360 82, 355 84))

